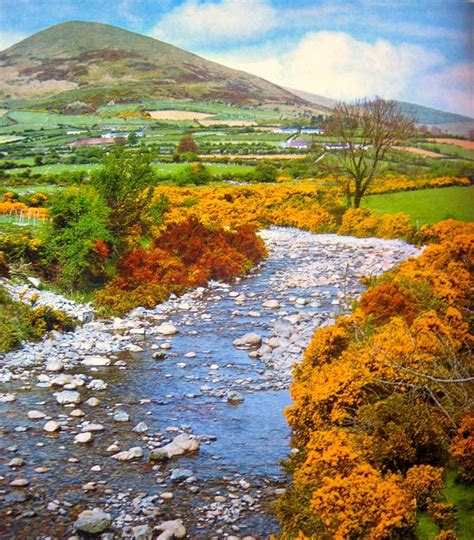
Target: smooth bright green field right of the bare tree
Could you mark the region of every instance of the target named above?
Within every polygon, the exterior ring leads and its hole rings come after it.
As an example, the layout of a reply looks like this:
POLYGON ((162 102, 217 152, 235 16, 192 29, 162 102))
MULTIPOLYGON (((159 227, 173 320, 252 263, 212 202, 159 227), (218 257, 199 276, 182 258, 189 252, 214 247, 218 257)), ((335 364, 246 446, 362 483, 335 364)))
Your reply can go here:
POLYGON ((474 221, 474 186, 370 195, 363 199, 362 206, 379 214, 403 212, 414 225, 450 218, 474 221))

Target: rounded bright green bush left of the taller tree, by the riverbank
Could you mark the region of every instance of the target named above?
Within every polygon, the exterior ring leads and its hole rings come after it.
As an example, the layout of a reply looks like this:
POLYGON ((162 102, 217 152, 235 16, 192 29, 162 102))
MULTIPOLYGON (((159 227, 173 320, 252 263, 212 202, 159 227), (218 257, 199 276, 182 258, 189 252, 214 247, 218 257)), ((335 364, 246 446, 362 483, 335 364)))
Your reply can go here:
POLYGON ((85 288, 101 279, 103 253, 98 241, 110 240, 109 209, 91 187, 70 187, 51 200, 51 222, 44 246, 51 277, 66 288, 85 288))

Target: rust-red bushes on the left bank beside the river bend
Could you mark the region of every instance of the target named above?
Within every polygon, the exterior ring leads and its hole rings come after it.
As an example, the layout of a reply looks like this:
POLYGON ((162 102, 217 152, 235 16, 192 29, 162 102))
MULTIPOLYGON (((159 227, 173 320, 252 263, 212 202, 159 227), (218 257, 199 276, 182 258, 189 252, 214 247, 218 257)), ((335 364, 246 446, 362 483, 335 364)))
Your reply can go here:
POLYGON ((118 313, 139 305, 153 307, 171 293, 248 272, 265 254, 252 226, 212 229, 190 216, 170 223, 150 248, 125 254, 117 278, 97 299, 118 313))

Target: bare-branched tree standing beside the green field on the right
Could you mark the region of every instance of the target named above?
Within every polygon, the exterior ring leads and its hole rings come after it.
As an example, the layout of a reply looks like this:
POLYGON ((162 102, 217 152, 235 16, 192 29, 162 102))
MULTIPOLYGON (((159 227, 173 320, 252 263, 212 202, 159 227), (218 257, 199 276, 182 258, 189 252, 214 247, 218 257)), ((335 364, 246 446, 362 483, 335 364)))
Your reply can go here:
POLYGON ((336 171, 345 177, 349 205, 359 208, 387 152, 409 137, 414 127, 414 119, 402 114, 396 101, 377 97, 333 108, 326 133, 342 145, 334 155, 336 171))

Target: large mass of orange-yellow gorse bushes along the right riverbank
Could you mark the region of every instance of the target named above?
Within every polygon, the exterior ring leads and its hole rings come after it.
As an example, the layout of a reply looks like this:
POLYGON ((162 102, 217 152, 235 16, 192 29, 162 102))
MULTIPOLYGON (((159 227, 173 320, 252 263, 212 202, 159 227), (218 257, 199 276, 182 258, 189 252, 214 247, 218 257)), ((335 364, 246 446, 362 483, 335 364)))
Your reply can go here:
POLYGON ((437 243, 317 330, 295 368, 282 538, 411 537, 426 508, 453 537, 442 500, 449 455, 461 479, 473 478, 474 226, 422 234, 437 243))

